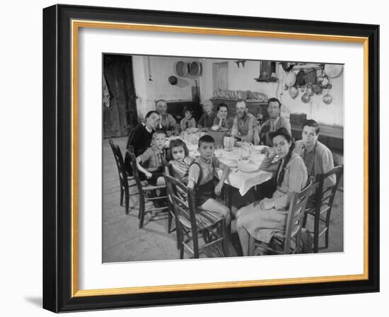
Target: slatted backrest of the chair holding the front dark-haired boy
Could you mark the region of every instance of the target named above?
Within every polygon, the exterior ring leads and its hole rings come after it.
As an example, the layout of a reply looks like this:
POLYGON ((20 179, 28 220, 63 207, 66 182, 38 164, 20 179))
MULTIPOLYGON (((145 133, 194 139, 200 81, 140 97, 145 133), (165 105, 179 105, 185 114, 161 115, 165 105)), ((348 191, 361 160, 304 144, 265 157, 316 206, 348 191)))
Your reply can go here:
POLYGON ((198 250, 196 207, 194 204, 194 192, 187 188, 180 180, 166 173, 166 188, 173 204, 176 219, 184 226, 192 229, 193 247, 198 250))

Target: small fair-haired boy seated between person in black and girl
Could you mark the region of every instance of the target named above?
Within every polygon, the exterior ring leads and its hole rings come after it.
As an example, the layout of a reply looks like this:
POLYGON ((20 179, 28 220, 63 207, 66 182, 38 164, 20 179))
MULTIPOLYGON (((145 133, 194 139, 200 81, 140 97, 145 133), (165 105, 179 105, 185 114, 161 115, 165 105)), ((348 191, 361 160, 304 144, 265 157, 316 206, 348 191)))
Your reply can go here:
POLYGON ((157 130, 153 133, 151 146, 137 157, 137 168, 141 173, 141 180, 146 180, 151 185, 163 185, 163 146, 166 142, 165 132, 157 130))

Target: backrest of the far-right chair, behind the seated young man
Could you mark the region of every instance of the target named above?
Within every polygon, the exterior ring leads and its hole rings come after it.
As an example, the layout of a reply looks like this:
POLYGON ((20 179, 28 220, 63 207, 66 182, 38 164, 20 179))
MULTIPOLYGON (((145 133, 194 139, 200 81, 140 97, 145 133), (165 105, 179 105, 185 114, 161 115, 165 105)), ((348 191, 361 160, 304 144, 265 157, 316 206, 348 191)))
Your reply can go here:
POLYGON ((327 204, 331 210, 335 198, 335 193, 337 191, 337 187, 339 185, 340 178, 342 178, 342 175, 342 165, 331 168, 330 171, 327 171, 327 173, 317 175, 315 192, 316 208, 320 209, 323 204, 327 204), (326 182, 326 180, 328 180, 328 178, 331 178, 332 175, 335 175, 336 177, 335 184, 325 187, 325 184, 328 183, 326 182))

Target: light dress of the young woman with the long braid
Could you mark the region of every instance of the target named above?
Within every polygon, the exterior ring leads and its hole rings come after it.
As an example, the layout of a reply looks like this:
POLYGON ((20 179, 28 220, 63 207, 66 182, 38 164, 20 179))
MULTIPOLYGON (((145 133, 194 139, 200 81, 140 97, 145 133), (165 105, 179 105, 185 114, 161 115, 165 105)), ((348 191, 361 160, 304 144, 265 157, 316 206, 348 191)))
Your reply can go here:
MULTIPOLYGON (((283 162, 281 162, 282 164, 283 162)), ((278 163, 266 157, 260 166, 263 171, 277 172, 278 163)), ((306 166, 298 154, 293 153, 286 164, 284 180, 277 185, 272 198, 265 198, 261 202, 253 202, 239 209, 236 221, 243 226, 250 236, 256 240, 269 243, 274 231, 285 230, 289 202, 293 192, 300 192, 306 185, 308 173, 306 166), (262 209, 262 202, 274 202, 274 208, 262 209)), ((279 173, 277 175, 277 179, 279 173)))

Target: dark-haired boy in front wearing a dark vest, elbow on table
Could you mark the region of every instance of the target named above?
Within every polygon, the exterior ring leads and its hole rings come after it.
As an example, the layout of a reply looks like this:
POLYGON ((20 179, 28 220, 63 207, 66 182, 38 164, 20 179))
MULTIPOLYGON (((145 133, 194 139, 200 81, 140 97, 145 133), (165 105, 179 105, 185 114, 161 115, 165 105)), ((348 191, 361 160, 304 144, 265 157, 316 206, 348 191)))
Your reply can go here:
POLYGON ((215 200, 215 194, 221 194, 229 168, 214 156, 215 140, 210 135, 206 134, 199 139, 198 151, 200 156, 194 159, 189 168, 187 187, 195 188, 197 207, 211 213, 221 214, 226 219, 226 224, 228 225, 231 221, 230 210, 225 204, 215 200), (223 174, 216 187, 214 186, 215 168, 223 170, 223 174))

